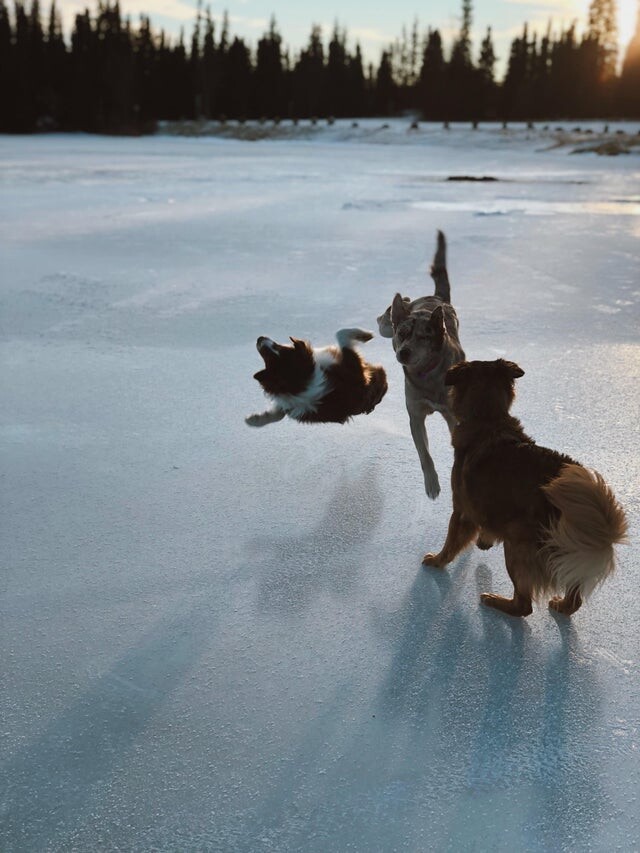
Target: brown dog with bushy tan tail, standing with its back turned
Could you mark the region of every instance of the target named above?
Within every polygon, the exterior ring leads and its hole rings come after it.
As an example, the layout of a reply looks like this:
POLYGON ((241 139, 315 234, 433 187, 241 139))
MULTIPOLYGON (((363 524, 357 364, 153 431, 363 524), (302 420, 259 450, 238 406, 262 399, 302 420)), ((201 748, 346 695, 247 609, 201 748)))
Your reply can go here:
POLYGON ((600 474, 569 456, 538 447, 509 414, 511 361, 470 361, 451 368, 453 512, 442 550, 424 564, 443 567, 476 540, 504 542, 513 597, 482 601, 511 616, 555 592, 549 607, 570 616, 614 569, 613 546, 626 541, 624 511, 600 474))

